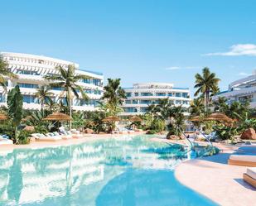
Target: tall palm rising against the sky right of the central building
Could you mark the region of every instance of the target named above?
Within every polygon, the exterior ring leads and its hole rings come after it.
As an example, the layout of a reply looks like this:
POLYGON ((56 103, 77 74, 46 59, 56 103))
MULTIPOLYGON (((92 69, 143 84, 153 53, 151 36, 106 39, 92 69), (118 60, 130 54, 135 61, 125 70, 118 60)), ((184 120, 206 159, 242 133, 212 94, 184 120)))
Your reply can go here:
POLYGON ((215 94, 219 91, 218 83, 220 79, 216 78, 215 73, 211 73, 210 69, 205 67, 201 74, 196 74, 196 85, 195 89, 197 96, 199 93, 202 93, 205 97, 205 111, 208 111, 208 105, 210 102, 210 94, 215 94))

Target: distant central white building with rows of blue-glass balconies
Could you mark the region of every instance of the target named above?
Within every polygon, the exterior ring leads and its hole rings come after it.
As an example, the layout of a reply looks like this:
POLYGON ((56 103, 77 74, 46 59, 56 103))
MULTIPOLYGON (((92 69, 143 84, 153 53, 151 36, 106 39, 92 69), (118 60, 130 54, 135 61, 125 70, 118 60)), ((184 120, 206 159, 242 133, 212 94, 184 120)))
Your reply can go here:
POLYGON ((133 88, 125 88, 127 99, 123 103, 123 116, 138 115, 147 112, 148 105, 158 103, 159 99, 169 98, 170 103, 185 108, 190 106, 190 90, 175 88, 167 83, 133 84, 133 88))

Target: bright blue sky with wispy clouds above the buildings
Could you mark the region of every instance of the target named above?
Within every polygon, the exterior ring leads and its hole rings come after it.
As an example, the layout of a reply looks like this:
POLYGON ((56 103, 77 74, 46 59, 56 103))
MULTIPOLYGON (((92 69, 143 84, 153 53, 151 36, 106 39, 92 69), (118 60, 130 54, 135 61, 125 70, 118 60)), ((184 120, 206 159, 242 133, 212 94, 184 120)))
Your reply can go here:
POLYGON ((255 0, 1 0, 0 50, 46 55, 138 82, 220 89, 256 69, 255 0))

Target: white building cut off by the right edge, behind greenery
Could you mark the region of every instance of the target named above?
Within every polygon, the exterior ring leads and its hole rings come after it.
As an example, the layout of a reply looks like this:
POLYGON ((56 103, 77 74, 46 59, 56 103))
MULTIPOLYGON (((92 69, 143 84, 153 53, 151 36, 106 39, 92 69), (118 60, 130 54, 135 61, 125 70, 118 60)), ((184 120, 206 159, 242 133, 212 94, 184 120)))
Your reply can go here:
POLYGON ((239 101, 243 103, 248 100, 251 108, 256 107, 256 72, 243 79, 236 80, 229 84, 229 89, 217 94, 213 100, 219 97, 228 98, 229 102, 239 101))

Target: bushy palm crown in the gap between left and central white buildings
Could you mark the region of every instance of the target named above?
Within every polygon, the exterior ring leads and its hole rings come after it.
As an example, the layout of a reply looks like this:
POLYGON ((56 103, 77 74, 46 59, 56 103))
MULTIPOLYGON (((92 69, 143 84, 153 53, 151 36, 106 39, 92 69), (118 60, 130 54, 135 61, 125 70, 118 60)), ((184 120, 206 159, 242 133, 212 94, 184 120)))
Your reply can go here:
POLYGON ((109 104, 118 107, 126 98, 124 90, 120 86, 121 79, 108 79, 108 84, 104 86, 104 95, 102 99, 106 99, 109 104))

